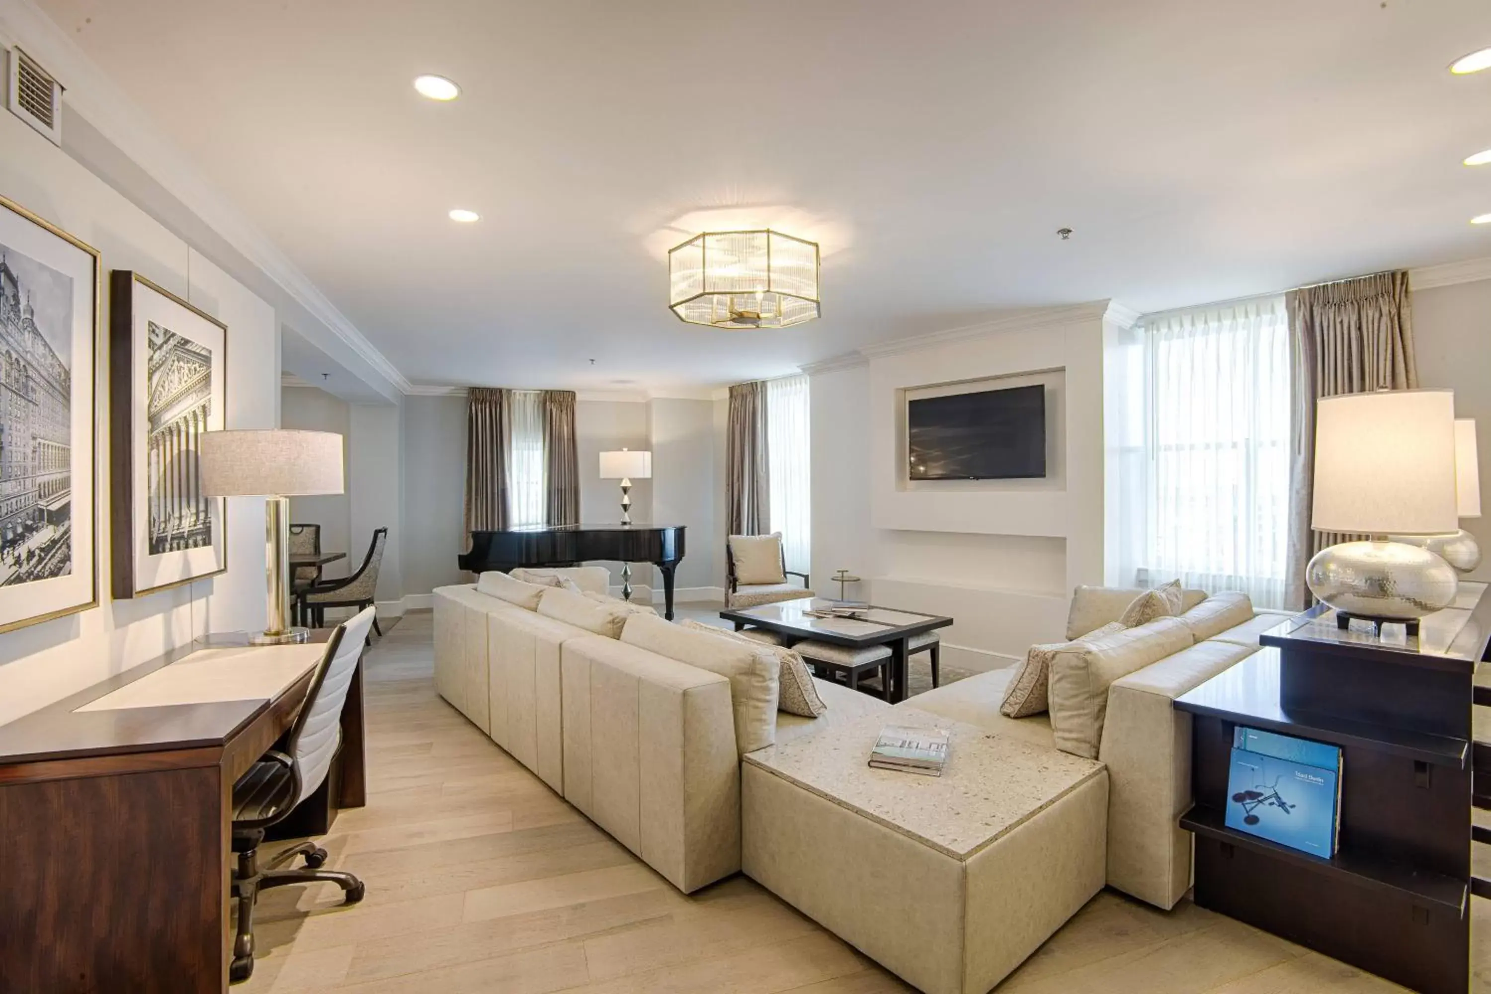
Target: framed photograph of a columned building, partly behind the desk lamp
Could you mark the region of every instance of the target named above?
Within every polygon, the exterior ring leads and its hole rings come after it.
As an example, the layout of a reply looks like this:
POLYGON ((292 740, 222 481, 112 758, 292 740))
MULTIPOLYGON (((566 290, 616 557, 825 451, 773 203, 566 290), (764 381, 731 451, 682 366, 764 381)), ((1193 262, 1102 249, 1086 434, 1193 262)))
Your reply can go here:
POLYGON ((222 429, 228 328, 139 273, 109 300, 113 596, 227 569, 222 498, 201 493, 201 435, 222 429))

